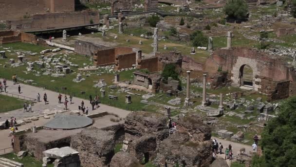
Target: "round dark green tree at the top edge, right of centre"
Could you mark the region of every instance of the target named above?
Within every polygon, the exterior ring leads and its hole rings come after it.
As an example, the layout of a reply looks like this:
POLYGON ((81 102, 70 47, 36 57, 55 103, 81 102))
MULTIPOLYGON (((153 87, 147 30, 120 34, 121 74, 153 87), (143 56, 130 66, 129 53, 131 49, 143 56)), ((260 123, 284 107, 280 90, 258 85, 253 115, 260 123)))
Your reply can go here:
POLYGON ((248 13, 248 5, 244 0, 228 0, 223 11, 230 19, 244 20, 248 13))

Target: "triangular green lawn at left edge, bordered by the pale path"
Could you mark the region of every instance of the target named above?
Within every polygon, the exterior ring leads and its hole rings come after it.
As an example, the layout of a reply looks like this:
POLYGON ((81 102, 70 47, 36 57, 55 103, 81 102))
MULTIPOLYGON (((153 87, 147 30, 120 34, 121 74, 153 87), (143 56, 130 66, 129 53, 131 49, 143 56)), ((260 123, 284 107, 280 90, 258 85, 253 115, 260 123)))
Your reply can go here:
POLYGON ((0 112, 11 111, 22 108, 24 101, 0 94, 0 112))

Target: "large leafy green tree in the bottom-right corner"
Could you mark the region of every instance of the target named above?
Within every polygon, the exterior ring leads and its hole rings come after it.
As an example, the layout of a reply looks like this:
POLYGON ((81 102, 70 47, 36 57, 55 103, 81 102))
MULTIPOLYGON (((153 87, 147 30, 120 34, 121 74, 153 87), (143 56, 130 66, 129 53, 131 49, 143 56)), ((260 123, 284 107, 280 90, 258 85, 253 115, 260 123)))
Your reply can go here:
POLYGON ((255 158, 252 167, 296 167, 296 96, 282 105, 276 118, 262 133, 263 156, 255 158))

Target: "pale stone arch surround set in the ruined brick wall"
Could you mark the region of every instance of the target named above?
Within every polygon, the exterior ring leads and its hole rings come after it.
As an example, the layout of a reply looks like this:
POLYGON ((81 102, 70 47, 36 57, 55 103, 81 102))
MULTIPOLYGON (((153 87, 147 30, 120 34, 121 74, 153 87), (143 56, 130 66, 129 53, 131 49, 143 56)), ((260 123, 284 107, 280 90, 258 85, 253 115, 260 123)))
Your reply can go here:
POLYGON ((232 77, 231 77, 232 84, 231 85, 236 86, 236 87, 240 87, 241 85, 243 85, 243 83, 241 83, 242 82, 241 79, 243 76, 243 68, 245 65, 250 66, 250 68, 253 71, 252 86, 253 86, 253 90, 255 90, 255 76, 259 75, 256 59, 250 59, 250 58, 245 58, 245 57, 238 57, 237 58, 237 61, 231 70, 231 74, 232 74, 232 77))

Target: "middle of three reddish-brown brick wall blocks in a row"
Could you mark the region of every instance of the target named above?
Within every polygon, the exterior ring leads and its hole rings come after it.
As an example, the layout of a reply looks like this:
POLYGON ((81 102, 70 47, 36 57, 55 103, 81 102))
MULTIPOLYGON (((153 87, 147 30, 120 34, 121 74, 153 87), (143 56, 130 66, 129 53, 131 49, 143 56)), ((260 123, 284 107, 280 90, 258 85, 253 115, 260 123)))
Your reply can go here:
POLYGON ((136 64, 136 53, 128 53, 115 56, 115 70, 130 68, 133 64, 136 64))

